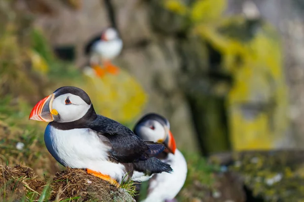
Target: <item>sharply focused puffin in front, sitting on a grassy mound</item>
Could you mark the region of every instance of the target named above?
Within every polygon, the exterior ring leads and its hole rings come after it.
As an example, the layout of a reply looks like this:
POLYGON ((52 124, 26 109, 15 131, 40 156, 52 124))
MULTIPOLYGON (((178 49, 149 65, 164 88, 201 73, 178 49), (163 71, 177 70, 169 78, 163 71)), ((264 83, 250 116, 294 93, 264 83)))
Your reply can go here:
POLYGON ((97 115, 81 88, 58 88, 33 107, 29 120, 50 122, 44 140, 60 164, 86 169, 111 185, 173 171, 155 157, 165 149, 163 144, 144 141, 119 122, 97 115))

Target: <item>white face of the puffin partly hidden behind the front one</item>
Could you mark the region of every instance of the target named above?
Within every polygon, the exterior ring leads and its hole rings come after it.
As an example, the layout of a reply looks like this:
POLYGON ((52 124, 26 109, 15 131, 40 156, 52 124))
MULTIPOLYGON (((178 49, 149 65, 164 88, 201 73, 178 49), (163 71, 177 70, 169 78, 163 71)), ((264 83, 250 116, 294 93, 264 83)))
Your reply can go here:
POLYGON ((143 140, 163 141, 166 138, 166 130, 162 124, 155 120, 147 120, 135 128, 136 134, 143 140))

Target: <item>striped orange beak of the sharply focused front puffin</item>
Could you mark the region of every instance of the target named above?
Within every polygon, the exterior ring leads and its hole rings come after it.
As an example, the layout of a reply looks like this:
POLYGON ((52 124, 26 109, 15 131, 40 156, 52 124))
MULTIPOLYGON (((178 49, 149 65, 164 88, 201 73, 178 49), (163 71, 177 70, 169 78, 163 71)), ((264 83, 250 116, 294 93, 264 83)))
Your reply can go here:
POLYGON ((53 115, 58 114, 56 110, 51 111, 53 99, 54 99, 54 94, 50 94, 49 96, 40 100, 32 109, 28 119, 35 121, 45 121, 45 122, 53 121, 54 120, 53 115))

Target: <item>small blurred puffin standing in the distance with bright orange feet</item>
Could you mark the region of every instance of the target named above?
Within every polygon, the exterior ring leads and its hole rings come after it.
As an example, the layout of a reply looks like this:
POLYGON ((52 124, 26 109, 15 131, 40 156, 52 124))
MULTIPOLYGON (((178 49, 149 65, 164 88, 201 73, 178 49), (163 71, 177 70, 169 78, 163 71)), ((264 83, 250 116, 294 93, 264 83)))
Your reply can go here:
POLYGON ((119 73, 119 68, 113 65, 111 60, 119 56, 122 48, 123 40, 117 29, 108 27, 87 43, 85 55, 89 56, 90 67, 95 70, 97 76, 102 77, 106 72, 115 75, 119 73))

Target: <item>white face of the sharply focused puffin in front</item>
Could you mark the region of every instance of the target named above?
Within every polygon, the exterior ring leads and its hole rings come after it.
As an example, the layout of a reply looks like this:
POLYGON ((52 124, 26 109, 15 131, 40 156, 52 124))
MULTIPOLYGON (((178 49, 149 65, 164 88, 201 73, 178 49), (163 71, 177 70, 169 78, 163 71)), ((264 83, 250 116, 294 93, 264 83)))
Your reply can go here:
POLYGON ((57 122, 61 123, 81 119, 90 107, 80 96, 71 93, 56 97, 52 103, 52 110, 56 110, 60 118, 57 122))

